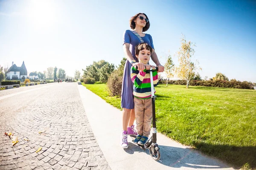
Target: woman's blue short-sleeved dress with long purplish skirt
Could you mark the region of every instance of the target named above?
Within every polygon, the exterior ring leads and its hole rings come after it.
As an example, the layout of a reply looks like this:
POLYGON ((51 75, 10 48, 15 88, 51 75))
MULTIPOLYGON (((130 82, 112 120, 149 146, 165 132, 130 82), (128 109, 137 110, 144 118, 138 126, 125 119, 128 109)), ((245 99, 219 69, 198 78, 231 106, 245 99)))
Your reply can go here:
MULTIPOLYGON (((148 45, 150 45, 154 49, 153 40, 150 34, 145 34, 144 37, 141 37, 142 40, 148 45)), ((134 35, 130 30, 126 30, 123 35, 123 44, 129 43, 130 44, 130 51, 133 58, 138 62, 137 57, 135 56, 135 46, 140 44, 140 39, 134 35)), ((128 59, 125 62, 124 67, 124 74, 123 74, 123 82, 122 82, 122 94, 121 94, 121 107, 127 109, 134 108, 134 101, 133 101, 133 82, 131 81, 131 63, 128 59)))

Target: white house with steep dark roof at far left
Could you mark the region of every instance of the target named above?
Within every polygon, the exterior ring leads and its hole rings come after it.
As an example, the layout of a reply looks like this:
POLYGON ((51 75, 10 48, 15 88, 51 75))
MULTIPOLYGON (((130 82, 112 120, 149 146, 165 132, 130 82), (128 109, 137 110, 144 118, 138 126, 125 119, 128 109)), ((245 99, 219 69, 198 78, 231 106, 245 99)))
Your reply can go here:
POLYGON ((21 67, 17 67, 16 64, 13 64, 6 72, 6 79, 8 80, 20 80, 20 79, 26 79, 28 77, 28 72, 26 70, 26 66, 24 64, 24 61, 21 65, 21 67))

